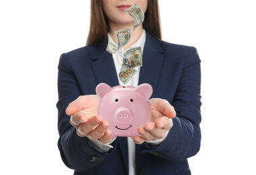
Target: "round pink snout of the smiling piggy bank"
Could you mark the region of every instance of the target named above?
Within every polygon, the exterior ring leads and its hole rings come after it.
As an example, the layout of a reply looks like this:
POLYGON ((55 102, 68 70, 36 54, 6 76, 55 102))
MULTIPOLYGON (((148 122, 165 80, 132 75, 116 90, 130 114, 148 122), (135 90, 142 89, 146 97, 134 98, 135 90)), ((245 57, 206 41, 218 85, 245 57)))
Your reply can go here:
POLYGON ((130 123, 133 120, 132 111, 128 108, 118 108, 115 112, 115 120, 121 124, 130 123))

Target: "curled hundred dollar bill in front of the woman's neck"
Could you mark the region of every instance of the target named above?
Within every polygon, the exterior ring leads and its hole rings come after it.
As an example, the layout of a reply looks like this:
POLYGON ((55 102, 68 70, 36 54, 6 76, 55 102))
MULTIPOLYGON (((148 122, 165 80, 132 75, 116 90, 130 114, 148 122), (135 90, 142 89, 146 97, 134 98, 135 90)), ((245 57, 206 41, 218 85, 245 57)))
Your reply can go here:
POLYGON ((130 28, 118 30, 115 32, 115 34, 118 40, 118 49, 120 47, 125 46, 130 41, 130 36, 131 36, 130 28))

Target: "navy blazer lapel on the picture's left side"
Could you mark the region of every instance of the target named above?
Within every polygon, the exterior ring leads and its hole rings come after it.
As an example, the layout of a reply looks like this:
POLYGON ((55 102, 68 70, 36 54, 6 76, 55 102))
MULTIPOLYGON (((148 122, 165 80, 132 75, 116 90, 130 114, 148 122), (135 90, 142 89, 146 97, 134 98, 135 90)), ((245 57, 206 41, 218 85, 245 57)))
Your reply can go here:
POLYGON ((107 83, 111 87, 119 85, 116 67, 113 63, 112 55, 106 51, 107 40, 101 45, 97 45, 95 53, 91 58, 93 60, 92 68, 98 83, 107 83))

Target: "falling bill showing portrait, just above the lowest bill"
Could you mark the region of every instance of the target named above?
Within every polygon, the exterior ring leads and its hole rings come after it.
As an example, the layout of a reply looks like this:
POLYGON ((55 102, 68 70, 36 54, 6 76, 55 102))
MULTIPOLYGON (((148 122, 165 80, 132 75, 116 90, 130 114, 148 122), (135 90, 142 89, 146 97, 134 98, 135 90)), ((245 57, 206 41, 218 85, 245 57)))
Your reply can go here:
POLYGON ((124 57, 122 59, 121 71, 123 69, 128 69, 131 67, 143 66, 143 57, 141 54, 141 47, 137 46, 130 48, 124 52, 124 57))

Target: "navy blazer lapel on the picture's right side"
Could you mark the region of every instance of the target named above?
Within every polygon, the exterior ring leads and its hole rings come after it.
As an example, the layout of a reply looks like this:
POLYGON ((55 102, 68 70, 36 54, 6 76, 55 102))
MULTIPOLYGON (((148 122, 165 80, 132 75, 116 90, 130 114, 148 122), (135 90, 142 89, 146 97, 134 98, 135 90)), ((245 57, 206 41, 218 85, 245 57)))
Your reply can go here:
POLYGON ((143 66, 140 67, 138 84, 149 83, 152 85, 153 94, 157 87, 157 80, 159 79, 161 72, 163 57, 163 48, 159 44, 159 41, 155 40, 155 38, 146 32, 146 42, 143 49, 143 66))

